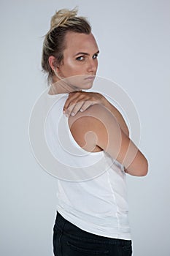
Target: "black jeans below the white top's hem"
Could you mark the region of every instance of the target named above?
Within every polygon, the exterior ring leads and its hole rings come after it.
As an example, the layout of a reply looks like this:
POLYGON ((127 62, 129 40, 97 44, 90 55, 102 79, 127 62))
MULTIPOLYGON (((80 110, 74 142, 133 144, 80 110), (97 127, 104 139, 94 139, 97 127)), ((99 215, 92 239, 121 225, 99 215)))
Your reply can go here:
POLYGON ((131 256, 131 241, 107 238, 81 230, 57 212, 53 229, 55 256, 131 256))

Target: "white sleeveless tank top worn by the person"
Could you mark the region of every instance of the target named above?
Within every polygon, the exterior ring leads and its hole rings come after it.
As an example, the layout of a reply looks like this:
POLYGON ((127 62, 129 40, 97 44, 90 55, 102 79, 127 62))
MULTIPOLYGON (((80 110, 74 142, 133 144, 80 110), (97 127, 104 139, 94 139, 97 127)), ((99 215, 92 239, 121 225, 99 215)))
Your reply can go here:
POLYGON ((124 167, 104 151, 80 148, 63 115, 67 97, 48 94, 55 104, 45 123, 47 145, 63 164, 63 173, 58 170, 58 212, 82 230, 130 240, 124 167))

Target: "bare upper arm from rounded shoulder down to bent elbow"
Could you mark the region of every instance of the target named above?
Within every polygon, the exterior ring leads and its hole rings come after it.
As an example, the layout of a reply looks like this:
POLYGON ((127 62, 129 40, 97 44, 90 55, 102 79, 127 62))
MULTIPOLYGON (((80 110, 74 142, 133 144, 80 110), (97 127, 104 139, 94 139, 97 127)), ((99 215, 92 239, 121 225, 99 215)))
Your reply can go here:
POLYGON ((134 176, 147 174, 147 159, 120 128, 115 116, 102 105, 93 105, 84 113, 69 118, 74 139, 87 151, 102 148, 134 176))

